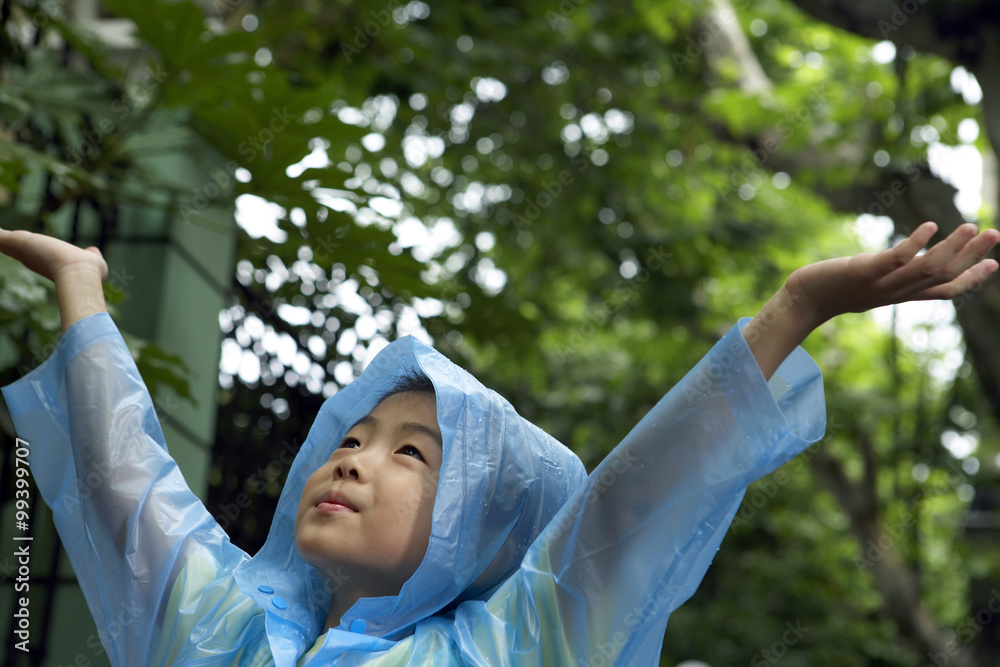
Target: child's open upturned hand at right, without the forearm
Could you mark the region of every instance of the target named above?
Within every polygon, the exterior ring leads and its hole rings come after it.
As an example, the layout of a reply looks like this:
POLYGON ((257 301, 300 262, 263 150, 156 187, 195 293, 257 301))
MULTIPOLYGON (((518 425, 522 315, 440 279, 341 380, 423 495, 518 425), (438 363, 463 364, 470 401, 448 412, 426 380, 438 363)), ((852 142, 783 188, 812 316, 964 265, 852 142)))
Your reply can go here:
POLYGON ((936 224, 925 222, 893 248, 803 266, 788 277, 785 289, 815 327, 843 313, 952 299, 997 270, 995 260, 982 257, 1000 241, 1000 231, 977 234, 976 226, 967 223, 918 254, 936 231, 936 224))

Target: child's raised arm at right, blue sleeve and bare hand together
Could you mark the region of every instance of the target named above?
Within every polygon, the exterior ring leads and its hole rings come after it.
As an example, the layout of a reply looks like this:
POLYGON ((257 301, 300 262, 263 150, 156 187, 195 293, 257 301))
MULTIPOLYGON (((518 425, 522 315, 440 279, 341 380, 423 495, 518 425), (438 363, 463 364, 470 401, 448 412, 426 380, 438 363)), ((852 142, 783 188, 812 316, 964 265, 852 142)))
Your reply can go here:
POLYGON ((934 231, 798 269, 734 327, 590 474, 517 575, 485 605, 459 609, 480 647, 471 657, 499 661, 502 632, 520 664, 654 664, 668 617, 701 582, 747 485, 823 435, 822 378, 798 344, 841 313, 949 298, 996 270, 980 261, 996 230, 962 226, 918 255, 934 231))

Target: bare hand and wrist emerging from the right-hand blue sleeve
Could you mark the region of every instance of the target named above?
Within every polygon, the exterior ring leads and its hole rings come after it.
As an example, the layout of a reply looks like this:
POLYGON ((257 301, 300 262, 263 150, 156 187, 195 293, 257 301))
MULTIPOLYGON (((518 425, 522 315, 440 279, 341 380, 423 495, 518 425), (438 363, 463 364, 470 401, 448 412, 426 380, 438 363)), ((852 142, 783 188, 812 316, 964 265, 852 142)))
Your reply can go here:
POLYGON ((893 248, 828 259, 797 269, 743 329, 770 379, 813 329, 838 315, 904 301, 952 299, 986 280, 997 262, 982 259, 1000 232, 965 224, 924 254, 937 225, 925 222, 893 248))

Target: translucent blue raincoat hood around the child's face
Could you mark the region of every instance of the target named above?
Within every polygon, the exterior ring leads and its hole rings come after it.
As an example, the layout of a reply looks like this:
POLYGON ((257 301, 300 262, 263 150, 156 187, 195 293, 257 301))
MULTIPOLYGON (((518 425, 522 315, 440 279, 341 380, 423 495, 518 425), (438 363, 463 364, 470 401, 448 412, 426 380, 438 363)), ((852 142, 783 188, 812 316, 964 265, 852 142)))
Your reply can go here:
POLYGON ((235 573, 243 592, 267 610, 276 654, 300 655, 322 633, 337 586, 336 573, 324 576, 295 546, 306 481, 348 429, 413 372, 434 384, 443 446, 427 551, 398 595, 362 598, 338 629, 400 639, 449 606, 486 599, 585 482, 580 459, 503 397, 412 336, 397 340, 323 404, 292 463, 267 541, 235 573), (286 609, 271 604, 276 596, 286 609), (278 637, 289 643, 275 646, 278 637))

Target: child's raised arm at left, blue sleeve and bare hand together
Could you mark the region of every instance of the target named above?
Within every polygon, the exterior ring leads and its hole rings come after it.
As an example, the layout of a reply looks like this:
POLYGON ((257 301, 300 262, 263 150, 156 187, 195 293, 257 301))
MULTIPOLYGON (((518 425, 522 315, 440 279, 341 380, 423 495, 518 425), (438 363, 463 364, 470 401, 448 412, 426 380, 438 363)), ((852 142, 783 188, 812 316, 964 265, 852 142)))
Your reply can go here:
POLYGON ((56 285, 65 335, 3 392, 101 641, 116 665, 173 664, 199 618, 178 621, 180 605, 167 606, 182 568, 198 555, 199 576, 187 580, 210 582, 245 554, 167 452, 149 393, 106 313, 100 252, 2 230, 0 251, 56 285))

